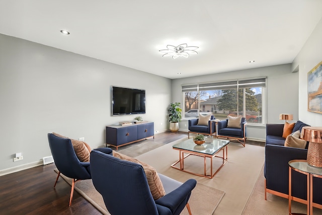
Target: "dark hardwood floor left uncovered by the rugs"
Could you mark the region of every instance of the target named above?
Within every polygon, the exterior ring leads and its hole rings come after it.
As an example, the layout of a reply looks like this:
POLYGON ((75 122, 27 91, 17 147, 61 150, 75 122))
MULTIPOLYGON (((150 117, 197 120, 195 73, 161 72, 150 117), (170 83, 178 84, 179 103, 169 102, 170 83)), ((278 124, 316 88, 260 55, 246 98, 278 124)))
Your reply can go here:
MULTIPOLYGON (((185 136, 187 132, 164 132, 156 134, 154 141, 168 144, 185 136)), ((263 146, 250 140, 247 144, 263 146)), ((101 214, 77 192, 69 207, 70 185, 60 178, 53 188, 55 168, 48 164, 1 176, 0 214, 101 214)))

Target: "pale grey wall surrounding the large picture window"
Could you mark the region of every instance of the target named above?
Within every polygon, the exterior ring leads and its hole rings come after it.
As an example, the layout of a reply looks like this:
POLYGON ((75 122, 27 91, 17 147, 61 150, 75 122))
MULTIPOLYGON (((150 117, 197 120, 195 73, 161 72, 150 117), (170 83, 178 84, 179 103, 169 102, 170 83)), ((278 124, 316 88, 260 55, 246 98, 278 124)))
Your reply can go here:
MULTIPOLYGON (((298 119, 298 73, 291 73, 291 64, 267 66, 261 68, 230 71, 206 76, 197 76, 173 80, 173 102, 182 103, 181 86, 194 83, 209 83, 254 77, 267 77, 267 123, 284 123, 279 120, 280 113, 292 113, 294 120, 298 119)), ((188 129, 188 122, 182 121, 180 129, 188 129)), ((247 127, 249 139, 264 140, 266 127, 247 127)))

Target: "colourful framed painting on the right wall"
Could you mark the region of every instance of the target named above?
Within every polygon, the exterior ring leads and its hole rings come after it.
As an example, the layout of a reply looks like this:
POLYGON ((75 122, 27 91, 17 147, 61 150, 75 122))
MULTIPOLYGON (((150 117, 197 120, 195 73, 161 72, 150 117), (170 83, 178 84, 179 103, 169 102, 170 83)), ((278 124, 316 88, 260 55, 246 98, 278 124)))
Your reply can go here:
POLYGON ((322 113, 322 61, 307 73, 307 110, 322 113))

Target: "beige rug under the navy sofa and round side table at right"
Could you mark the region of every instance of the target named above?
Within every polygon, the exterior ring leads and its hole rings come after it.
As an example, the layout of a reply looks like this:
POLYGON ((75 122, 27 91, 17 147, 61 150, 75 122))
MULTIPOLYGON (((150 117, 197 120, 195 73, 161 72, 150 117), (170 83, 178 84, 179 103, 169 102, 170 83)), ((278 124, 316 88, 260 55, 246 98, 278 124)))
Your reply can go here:
MULTIPOLYGON (((258 178, 254 191, 248 201, 243 215, 284 215, 288 214, 288 199, 267 193, 264 199, 264 168, 258 178)), ((306 204, 292 201, 292 213, 306 214, 306 204)), ((322 214, 322 210, 313 208, 313 214, 322 214)))

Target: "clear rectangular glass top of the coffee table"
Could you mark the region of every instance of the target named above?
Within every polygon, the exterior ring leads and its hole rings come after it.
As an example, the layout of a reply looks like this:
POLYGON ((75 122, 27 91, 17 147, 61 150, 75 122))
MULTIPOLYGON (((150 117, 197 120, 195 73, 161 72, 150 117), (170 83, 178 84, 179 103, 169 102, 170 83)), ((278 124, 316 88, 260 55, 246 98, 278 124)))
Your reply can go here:
POLYGON ((205 143, 202 145, 197 145, 194 143, 193 139, 187 139, 180 142, 179 144, 173 145, 174 149, 188 150, 191 152, 198 152, 207 155, 213 155, 222 148, 229 144, 229 140, 217 139, 213 137, 205 137, 205 143))

